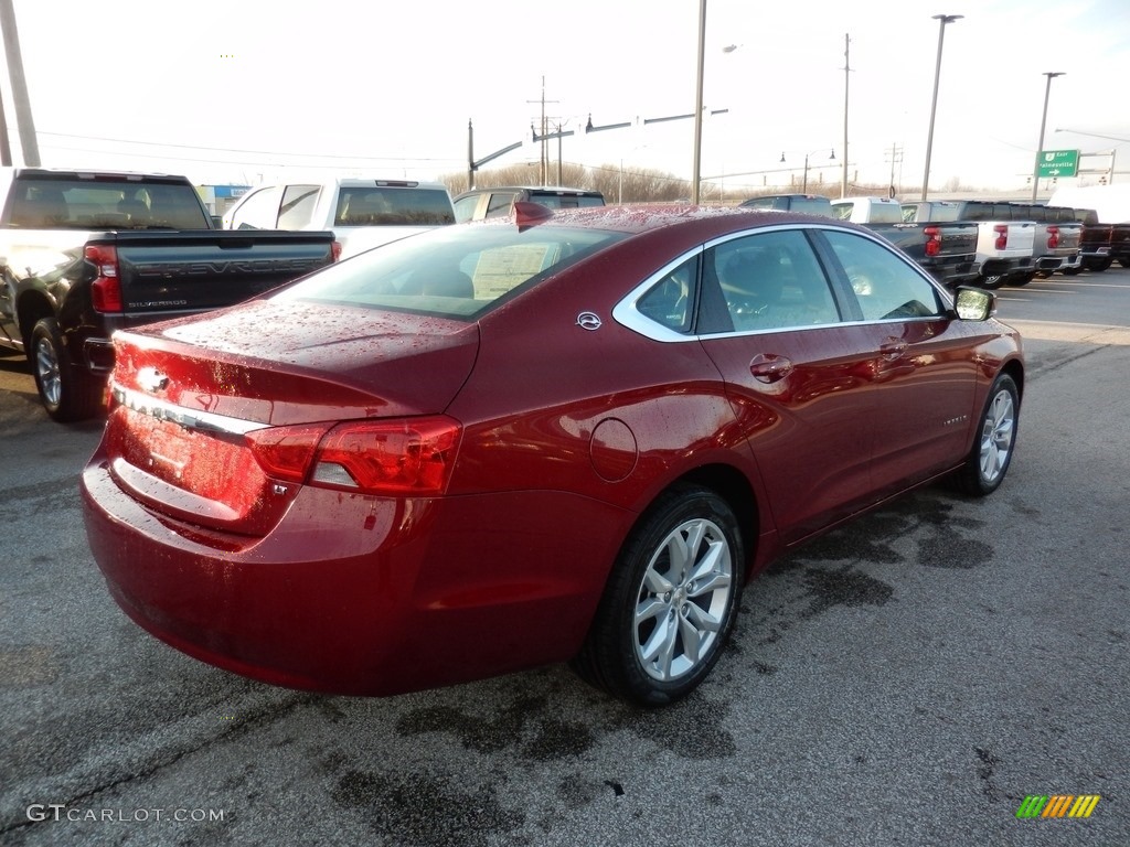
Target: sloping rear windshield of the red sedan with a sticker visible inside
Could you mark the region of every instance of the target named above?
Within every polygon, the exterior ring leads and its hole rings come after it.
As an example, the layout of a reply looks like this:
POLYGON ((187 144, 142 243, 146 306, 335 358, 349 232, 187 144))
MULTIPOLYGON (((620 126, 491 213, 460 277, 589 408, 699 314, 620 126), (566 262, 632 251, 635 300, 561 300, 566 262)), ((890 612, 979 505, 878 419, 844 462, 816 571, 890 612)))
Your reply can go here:
POLYGON ((443 227, 330 265, 273 298, 471 318, 624 237, 550 226, 443 227))

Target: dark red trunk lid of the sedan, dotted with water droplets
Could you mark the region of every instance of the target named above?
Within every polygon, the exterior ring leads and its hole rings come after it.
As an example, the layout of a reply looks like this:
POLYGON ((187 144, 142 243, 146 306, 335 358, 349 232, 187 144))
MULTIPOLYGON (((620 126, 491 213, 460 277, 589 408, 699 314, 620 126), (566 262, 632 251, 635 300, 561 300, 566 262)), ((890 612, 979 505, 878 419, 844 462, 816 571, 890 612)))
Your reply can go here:
POLYGON ((295 321, 293 304, 260 300, 120 332, 114 344, 104 452, 118 484, 169 518, 258 536, 315 474, 367 492, 372 479, 354 473, 355 483, 350 455, 376 451, 376 473, 395 475, 405 462, 390 452, 426 462, 421 449, 454 449, 458 425, 442 412, 471 370, 478 328, 320 304, 303 304, 295 321), (328 440, 337 459, 327 472, 314 456, 328 440))

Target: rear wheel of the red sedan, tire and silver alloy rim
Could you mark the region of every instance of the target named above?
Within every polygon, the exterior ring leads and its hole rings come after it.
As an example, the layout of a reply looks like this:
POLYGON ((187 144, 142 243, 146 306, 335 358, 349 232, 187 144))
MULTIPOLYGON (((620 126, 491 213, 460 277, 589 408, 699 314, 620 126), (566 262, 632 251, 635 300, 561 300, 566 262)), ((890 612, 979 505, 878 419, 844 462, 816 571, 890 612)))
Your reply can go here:
POLYGON ((620 551, 574 670, 641 706, 686 697, 721 655, 744 577, 729 504, 706 488, 671 489, 620 551))

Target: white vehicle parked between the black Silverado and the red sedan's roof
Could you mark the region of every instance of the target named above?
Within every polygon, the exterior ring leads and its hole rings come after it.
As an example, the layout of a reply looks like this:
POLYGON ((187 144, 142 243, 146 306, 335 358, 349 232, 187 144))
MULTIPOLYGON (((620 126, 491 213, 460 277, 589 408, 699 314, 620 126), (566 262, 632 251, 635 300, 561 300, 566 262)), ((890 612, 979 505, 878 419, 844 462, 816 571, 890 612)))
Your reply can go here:
POLYGON ((224 216, 225 229, 330 229, 341 259, 454 222, 442 183, 340 176, 260 185, 224 216))

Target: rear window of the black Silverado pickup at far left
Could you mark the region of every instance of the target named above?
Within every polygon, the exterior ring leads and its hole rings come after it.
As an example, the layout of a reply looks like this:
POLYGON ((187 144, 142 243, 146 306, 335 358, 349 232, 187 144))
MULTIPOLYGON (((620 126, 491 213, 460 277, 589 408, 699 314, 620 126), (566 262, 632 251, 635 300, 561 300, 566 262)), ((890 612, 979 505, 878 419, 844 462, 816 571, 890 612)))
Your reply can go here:
POLYGON ((210 229, 191 185, 95 177, 21 178, 8 226, 16 229, 210 229))

